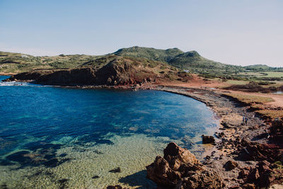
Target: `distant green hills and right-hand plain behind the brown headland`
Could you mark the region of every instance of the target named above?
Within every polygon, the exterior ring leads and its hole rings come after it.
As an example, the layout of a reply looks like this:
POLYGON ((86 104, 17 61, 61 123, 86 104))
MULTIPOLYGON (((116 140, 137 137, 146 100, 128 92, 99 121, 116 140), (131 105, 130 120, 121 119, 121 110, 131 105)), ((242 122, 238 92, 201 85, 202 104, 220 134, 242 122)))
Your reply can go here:
MULTIPOLYGON (((130 59, 133 64, 141 67, 157 67, 164 69, 171 65, 173 69, 181 69, 190 73, 199 74, 206 78, 220 78, 233 80, 263 80, 261 75, 266 75, 266 81, 282 81, 281 76, 273 76, 282 72, 283 68, 268 67, 266 65, 252 65, 248 67, 222 64, 202 57, 196 51, 183 52, 178 48, 160 50, 149 47, 129 47, 117 50, 112 54, 102 56, 92 55, 58 55, 35 57, 21 53, 0 52, 0 74, 17 74, 33 69, 72 69, 79 67, 93 67, 99 69, 112 61, 112 56, 130 59), (262 72, 275 72, 262 74, 262 72), (261 73, 253 74, 253 72, 261 73)), ((170 68, 172 69, 172 68, 170 68)), ((156 69, 157 71, 157 69, 156 69)), ((161 71, 161 70, 158 70, 161 71)))

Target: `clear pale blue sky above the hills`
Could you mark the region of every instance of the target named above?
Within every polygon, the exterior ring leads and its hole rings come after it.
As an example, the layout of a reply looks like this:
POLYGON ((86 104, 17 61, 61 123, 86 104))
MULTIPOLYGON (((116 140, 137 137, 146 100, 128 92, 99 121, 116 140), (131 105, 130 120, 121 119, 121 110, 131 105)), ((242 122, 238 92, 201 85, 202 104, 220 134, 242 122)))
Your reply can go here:
POLYGON ((0 0, 0 50, 104 55, 135 45, 283 67, 282 0, 0 0))

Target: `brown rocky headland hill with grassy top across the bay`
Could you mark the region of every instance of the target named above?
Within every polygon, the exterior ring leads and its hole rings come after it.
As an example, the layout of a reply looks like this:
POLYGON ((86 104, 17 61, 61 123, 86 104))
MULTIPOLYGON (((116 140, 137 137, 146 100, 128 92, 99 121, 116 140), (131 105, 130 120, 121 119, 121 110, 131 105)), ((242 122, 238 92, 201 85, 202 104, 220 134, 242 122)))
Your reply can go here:
POLYGON ((166 62, 135 57, 105 55, 79 64, 73 69, 33 69, 11 76, 6 81, 30 81, 62 86, 133 86, 147 82, 184 81, 190 74, 178 71, 166 62))

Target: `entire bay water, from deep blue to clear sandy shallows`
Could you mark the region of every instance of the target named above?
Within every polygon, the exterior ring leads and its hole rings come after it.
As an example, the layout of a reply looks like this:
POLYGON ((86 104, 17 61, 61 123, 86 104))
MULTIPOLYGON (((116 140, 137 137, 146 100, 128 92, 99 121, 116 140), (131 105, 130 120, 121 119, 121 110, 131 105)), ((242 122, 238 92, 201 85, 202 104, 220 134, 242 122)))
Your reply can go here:
POLYGON ((200 156, 200 135, 218 124, 203 103, 173 93, 20 82, 0 83, 0 123, 8 188, 151 188, 145 166, 168 142, 200 156))

